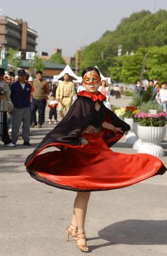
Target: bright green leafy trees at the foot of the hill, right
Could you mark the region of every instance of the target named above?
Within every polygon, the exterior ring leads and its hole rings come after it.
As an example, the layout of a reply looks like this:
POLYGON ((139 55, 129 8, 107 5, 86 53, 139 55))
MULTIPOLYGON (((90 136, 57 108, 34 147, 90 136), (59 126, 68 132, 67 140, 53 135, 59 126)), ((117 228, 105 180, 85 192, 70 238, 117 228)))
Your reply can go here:
POLYGON ((135 83, 136 79, 140 79, 145 52, 147 61, 143 79, 167 81, 167 46, 140 48, 133 56, 113 57, 113 65, 108 68, 113 81, 135 83))

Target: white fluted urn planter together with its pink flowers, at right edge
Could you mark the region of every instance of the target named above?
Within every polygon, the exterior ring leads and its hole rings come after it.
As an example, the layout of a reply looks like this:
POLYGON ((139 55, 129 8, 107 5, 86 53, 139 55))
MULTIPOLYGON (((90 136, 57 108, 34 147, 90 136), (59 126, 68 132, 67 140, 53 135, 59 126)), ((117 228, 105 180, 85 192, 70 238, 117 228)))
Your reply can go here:
POLYGON ((159 145, 166 134, 166 113, 157 114, 139 112, 134 115, 138 120, 138 138, 142 140, 142 146, 138 153, 147 153, 153 156, 164 156, 164 150, 159 145))

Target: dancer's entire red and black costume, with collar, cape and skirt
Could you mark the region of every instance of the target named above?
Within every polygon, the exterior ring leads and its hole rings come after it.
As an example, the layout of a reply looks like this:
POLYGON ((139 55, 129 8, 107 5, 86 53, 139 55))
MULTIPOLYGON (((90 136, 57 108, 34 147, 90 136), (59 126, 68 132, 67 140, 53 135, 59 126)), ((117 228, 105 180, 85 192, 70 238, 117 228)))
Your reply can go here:
POLYGON ((104 129, 102 123, 110 122, 123 131, 130 127, 104 106, 104 99, 100 92, 78 93, 67 115, 27 157, 25 166, 31 177, 56 188, 99 191, 124 188, 166 172, 157 157, 110 149, 123 134, 104 129), (59 150, 40 154, 52 146, 59 150))

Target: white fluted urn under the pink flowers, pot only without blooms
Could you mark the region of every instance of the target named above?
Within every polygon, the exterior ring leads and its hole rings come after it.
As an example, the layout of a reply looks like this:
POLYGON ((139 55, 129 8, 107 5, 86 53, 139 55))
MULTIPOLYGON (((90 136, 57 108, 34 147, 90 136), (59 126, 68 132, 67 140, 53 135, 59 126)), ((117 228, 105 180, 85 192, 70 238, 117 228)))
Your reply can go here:
POLYGON ((143 144, 138 149, 138 153, 147 153, 156 157, 164 156, 163 147, 159 145, 164 140, 166 126, 151 127, 138 125, 138 138, 143 144))

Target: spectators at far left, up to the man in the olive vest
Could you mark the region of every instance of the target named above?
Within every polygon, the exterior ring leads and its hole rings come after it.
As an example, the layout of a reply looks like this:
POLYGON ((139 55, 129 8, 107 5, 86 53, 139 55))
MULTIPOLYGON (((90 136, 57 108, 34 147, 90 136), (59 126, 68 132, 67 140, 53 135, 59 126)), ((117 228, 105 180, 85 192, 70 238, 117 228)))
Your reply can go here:
POLYGON ((24 69, 18 70, 18 76, 15 77, 13 72, 6 74, 4 68, 0 68, 0 134, 4 146, 15 147, 20 127, 22 127, 23 145, 31 146, 30 127, 38 124, 41 128, 45 122, 48 93, 49 84, 43 79, 41 71, 36 72, 36 79, 33 81, 33 77, 29 77, 24 69))

